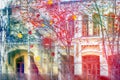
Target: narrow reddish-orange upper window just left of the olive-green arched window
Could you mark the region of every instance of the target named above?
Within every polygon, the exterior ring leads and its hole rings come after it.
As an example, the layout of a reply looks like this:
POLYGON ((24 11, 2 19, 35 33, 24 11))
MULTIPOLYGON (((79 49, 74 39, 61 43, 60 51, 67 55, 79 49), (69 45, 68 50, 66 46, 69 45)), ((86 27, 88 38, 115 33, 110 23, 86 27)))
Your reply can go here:
POLYGON ((82 36, 88 36, 88 15, 83 15, 82 19, 82 36))

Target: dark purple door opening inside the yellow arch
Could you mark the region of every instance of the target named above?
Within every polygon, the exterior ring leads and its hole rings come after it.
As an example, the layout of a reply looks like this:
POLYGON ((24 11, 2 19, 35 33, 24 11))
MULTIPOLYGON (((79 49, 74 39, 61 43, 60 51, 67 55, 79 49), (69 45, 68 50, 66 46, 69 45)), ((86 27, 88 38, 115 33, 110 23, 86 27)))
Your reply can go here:
POLYGON ((24 57, 16 59, 16 73, 24 73, 24 57))

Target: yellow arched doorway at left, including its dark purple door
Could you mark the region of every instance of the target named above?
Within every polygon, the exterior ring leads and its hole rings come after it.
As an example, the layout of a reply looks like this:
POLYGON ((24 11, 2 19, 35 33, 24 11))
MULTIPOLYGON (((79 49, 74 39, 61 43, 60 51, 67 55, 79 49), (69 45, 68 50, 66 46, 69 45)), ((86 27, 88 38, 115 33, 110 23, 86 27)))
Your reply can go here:
MULTIPOLYGON (((34 57, 33 53, 29 53, 30 56, 34 57)), ((12 67, 13 72, 15 73, 24 73, 29 72, 29 59, 28 52, 24 49, 16 49, 8 53, 8 64, 9 67, 12 67)))

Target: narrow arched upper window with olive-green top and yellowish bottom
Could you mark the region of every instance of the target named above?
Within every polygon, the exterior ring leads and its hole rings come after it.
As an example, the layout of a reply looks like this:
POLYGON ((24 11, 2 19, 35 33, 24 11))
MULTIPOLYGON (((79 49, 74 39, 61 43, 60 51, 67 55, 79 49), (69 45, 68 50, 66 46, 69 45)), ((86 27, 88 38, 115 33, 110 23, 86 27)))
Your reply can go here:
POLYGON ((93 36, 100 35, 100 17, 97 13, 93 14, 93 36))

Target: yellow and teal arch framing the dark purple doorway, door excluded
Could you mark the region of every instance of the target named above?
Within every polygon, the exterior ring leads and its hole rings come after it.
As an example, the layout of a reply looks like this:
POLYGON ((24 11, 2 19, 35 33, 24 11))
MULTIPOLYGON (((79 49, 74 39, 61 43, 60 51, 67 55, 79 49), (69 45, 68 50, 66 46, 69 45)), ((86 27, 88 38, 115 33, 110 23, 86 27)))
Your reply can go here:
MULTIPOLYGON (((25 49, 16 49, 8 53, 8 67, 13 68, 13 72, 17 72, 17 59, 23 57, 23 64, 24 64, 24 73, 28 73, 28 55, 34 56, 32 52, 29 52, 25 49)), ((21 65, 21 64, 18 64, 21 65)))

